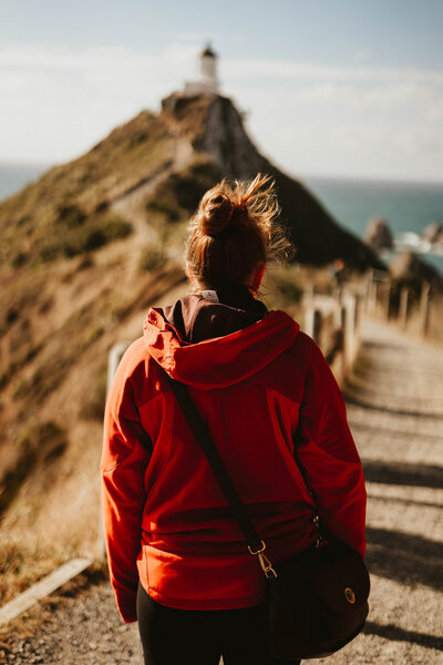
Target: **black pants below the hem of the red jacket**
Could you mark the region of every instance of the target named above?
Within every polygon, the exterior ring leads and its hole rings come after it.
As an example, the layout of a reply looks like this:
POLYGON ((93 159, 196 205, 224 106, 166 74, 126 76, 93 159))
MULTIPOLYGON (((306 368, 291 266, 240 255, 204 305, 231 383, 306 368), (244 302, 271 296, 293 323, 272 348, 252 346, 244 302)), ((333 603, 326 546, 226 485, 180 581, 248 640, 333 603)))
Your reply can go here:
POLYGON ((174 610, 138 584, 137 618, 145 665, 298 665, 267 656, 264 606, 174 610))

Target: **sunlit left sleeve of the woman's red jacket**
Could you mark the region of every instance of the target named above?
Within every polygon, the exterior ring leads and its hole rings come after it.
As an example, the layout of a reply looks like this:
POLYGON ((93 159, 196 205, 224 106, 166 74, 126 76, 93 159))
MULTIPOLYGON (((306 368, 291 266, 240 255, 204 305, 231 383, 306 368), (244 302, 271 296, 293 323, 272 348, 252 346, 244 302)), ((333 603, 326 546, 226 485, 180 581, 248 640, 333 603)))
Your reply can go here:
POLYGON ((145 505, 145 470, 151 441, 134 403, 124 359, 111 387, 105 409, 102 473, 102 513, 111 584, 124 622, 136 621, 136 566, 145 505))

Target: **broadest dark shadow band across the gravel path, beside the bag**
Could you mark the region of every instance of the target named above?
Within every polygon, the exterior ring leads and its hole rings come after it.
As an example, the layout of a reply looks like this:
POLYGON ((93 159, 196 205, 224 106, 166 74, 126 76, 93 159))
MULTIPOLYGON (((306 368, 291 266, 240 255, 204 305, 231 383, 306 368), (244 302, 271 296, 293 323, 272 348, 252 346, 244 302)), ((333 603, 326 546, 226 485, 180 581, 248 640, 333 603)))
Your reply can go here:
POLYGON ((370 573, 414 586, 443 591, 443 544, 421 535, 367 529, 364 557, 370 573))

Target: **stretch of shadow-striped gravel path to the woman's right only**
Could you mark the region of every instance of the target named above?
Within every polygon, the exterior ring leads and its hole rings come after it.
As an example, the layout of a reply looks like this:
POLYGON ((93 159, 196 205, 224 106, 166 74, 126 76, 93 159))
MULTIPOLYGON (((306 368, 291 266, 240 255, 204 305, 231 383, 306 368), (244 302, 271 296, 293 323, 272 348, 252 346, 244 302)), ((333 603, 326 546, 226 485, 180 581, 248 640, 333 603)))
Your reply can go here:
POLYGON ((436 665, 443 663, 443 349, 374 320, 363 320, 362 341, 344 393, 367 480, 371 613, 364 634, 324 663, 436 665))

